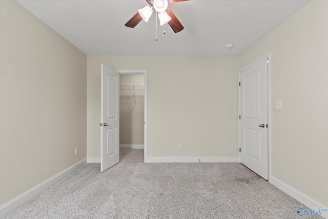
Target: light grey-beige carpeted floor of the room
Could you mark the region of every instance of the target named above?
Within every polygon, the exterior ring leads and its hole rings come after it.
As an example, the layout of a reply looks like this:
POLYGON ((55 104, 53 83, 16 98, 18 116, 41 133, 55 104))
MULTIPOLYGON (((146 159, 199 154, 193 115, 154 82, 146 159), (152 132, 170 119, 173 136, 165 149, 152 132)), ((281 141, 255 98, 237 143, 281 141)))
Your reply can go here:
POLYGON ((121 149, 103 173, 87 164, 4 218, 299 218, 305 208, 241 164, 146 164, 143 154, 121 149))

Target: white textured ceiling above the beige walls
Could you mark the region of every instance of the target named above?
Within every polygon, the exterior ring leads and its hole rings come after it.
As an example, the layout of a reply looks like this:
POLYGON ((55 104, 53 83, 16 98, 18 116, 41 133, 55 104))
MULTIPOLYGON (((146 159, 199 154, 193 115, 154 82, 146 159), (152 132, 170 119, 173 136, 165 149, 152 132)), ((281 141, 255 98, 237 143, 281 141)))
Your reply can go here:
POLYGON ((156 16, 124 24, 145 0, 17 0, 87 55, 240 55, 309 0, 191 0, 169 3, 185 27, 174 33, 156 16), (234 48, 227 49, 227 44, 234 48))

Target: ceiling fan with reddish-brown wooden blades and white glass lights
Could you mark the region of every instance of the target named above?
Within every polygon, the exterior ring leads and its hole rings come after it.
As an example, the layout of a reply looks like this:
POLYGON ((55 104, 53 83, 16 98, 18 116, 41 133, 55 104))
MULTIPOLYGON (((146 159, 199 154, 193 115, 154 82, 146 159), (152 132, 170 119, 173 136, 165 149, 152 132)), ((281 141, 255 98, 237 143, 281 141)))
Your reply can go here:
MULTIPOLYGON (((188 0, 170 0, 170 3, 184 2, 188 0)), ((152 15, 154 9, 158 13, 160 25, 168 23, 172 30, 177 33, 183 30, 182 24, 168 7, 168 0, 146 0, 149 5, 146 5, 138 10, 138 12, 125 24, 127 27, 134 28, 139 22, 144 19, 148 22, 149 17, 152 15)))

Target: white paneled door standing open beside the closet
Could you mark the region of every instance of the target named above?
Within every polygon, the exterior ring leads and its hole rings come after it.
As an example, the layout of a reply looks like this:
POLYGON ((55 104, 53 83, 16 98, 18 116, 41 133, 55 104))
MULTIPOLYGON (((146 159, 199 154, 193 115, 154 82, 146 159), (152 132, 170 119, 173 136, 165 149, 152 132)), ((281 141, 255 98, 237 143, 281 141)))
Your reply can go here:
POLYGON ((100 171, 119 162, 119 72, 101 65, 100 171))

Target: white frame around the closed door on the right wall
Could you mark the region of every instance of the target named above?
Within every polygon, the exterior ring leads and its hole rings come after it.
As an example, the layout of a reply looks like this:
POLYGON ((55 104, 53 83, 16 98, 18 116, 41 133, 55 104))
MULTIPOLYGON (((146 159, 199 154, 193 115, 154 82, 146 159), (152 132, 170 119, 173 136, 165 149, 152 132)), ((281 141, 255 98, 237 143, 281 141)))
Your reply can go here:
POLYGON ((239 148, 240 148, 240 120, 239 120, 239 115, 240 115, 240 90, 239 90, 239 82, 240 82, 240 72, 243 71, 244 69, 249 68, 250 66, 254 65, 257 63, 260 59, 268 57, 268 178, 270 182, 271 178, 271 130, 272 130, 272 123, 271 123, 271 52, 261 56, 260 58, 256 59, 256 61, 250 63, 249 65, 241 68, 238 70, 238 83, 237 83, 237 88, 238 88, 238 162, 240 163, 240 153, 239 153, 239 148))

